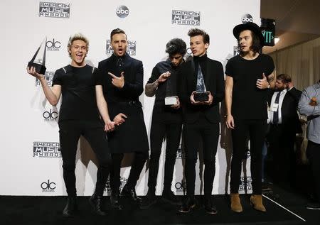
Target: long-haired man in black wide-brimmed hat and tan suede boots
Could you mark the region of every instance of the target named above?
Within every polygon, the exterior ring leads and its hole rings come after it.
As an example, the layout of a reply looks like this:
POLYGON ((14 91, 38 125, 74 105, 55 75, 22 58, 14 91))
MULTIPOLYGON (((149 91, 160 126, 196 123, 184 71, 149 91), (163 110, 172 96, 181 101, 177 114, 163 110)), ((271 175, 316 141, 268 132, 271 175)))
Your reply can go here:
POLYGON ((233 28, 240 55, 232 57, 225 67, 226 125, 232 129, 233 158, 230 175, 231 210, 242 212, 238 194, 241 161, 250 138, 252 196, 250 202, 261 212, 262 146, 267 128, 267 89, 274 87, 274 62, 261 53, 265 43, 259 26, 245 23, 233 28))

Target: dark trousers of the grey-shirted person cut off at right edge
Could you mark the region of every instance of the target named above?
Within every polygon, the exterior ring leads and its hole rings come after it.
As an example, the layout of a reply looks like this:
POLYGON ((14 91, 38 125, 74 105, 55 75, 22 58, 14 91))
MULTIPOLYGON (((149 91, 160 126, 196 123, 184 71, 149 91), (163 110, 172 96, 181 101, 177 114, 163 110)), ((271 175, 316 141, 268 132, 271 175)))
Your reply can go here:
POLYGON ((309 159, 311 173, 314 181, 314 192, 320 203, 320 144, 308 141, 306 156, 309 159))

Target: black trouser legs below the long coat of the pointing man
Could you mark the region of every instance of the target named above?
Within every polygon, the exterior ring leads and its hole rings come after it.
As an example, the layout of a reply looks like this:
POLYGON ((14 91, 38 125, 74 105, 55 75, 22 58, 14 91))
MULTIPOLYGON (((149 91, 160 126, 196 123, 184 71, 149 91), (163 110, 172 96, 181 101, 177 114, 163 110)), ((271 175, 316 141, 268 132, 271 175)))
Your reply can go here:
MULTIPOLYGON (((124 153, 112 153, 112 170, 110 171, 110 186, 112 194, 119 194, 120 187, 120 169, 121 161, 124 157, 124 153)), ((130 174, 127 180, 126 186, 129 189, 134 189, 139 180, 140 173, 144 168, 144 163, 148 158, 148 152, 135 152, 134 161, 131 165, 130 174)))

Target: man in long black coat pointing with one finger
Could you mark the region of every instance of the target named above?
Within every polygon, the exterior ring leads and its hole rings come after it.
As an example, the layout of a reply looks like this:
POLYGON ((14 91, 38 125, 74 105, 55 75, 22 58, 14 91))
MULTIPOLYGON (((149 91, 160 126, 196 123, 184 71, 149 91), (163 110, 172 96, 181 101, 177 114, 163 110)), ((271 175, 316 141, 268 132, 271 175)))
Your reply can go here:
MULTIPOLYGON (((144 91, 142 62, 127 54, 127 35, 117 28, 111 32, 114 53, 99 62, 95 73, 100 95, 109 107, 110 118, 119 126, 108 133, 112 153, 113 170, 110 172, 111 197, 114 209, 121 210, 119 203, 120 168, 124 153, 134 153, 134 161, 122 196, 140 203, 135 186, 148 158, 149 143, 144 124, 144 114, 139 96, 144 91)), ((107 109, 106 109, 107 110, 107 109)))

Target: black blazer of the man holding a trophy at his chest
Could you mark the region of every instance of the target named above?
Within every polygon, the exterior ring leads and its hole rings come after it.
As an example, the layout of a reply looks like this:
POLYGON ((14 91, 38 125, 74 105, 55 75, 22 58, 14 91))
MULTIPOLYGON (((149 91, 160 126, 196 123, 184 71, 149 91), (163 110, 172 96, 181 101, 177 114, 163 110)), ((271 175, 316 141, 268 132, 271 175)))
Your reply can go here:
POLYGON ((225 83, 223 65, 221 62, 207 57, 205 69, 205 84, 207 91, 213 95, 213 103, 210 106, 191 104, 190 96, 196 90, 197 74, 192 60, 181 65, 178 70, 178 97, 183 107, 183 119, 186 123, 193 123, 201 114, 211 123, 220 122, 219 102, 225 96, 225 83))

